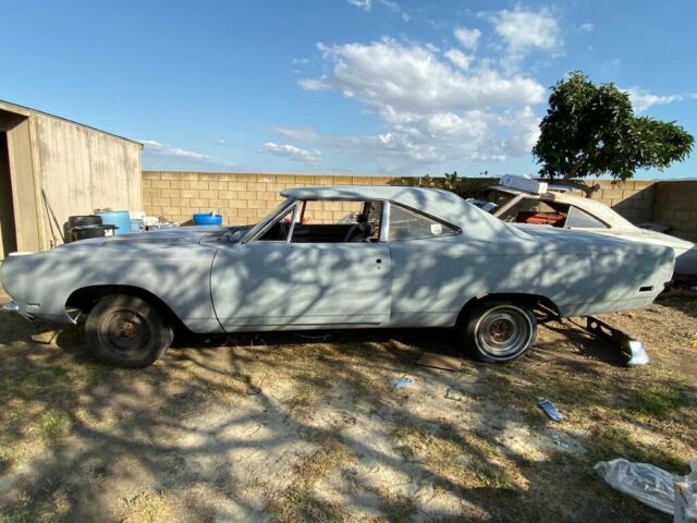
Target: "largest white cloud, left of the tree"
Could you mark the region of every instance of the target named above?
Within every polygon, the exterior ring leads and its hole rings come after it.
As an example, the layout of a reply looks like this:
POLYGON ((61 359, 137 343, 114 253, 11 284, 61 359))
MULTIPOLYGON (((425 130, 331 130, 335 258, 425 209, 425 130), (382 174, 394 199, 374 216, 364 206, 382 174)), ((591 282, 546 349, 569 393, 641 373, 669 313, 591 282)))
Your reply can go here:
POLYGON ((390 38, 317 47, 329 72, 299 85, 358 100, 386 129, 359 136, 285 129, 294 139, 372 158, 380 170, 408 172, 424 165, 529 154, 537 137, 530 106, 543 100, 545 88, 533 78, 503 74, 457 49, 443 59, 426 45, 390 38))

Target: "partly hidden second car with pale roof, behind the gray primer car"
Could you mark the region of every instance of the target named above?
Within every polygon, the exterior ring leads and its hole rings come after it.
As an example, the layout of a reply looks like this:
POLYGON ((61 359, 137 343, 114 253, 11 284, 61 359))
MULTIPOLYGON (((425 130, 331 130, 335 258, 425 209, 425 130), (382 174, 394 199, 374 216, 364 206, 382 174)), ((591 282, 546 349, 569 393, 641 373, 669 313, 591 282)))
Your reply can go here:
POLYGON ((490 190, 492 194, 489 198, 477 200, 475 204, 506 222, 548 224, 663 245, 675 253, 673 278, 697 280, 697 245, 670 234, 637 227, 607 205, 584 197, 579 191, 549 186, 546 191, 534 192, 506 185, 496 185, 490 190), (540 208, 538 202, 546 208, 540 208))

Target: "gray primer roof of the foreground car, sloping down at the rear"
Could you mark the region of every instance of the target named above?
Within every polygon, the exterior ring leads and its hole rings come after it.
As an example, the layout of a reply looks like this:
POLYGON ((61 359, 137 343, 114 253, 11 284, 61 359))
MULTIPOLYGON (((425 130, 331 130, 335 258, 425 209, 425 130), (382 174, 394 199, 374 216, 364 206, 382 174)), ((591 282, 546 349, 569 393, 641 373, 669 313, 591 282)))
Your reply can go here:
POLYGON ((501 234, 516 234, 508 223, 465 202, 450 191, 441 188, 408 187, 401 185, 328 185, 296 187, 281 191, 292 199, 388 199, 420 210, 470 231, 481 240, 494 240, 501 234))

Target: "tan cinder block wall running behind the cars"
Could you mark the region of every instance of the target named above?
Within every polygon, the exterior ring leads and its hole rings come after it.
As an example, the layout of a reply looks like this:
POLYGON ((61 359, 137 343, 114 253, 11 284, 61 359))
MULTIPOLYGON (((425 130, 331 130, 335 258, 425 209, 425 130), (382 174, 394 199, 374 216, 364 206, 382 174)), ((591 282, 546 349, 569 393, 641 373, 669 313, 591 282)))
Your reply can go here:
MULTIPOLYGON (((148 215, 180 223, 188 222, 194 212, 216 210, 228 224, 248 224, 278 205, 279 192, 283 188, 383 185, 392 180, 389 177, 144 171, 143 204, 148 215)), ((496 179, 491 179, 491 184, 494 182, 496 179)), ((658 221, 672 228, 676 235, 697 236, 697 181, 636 180, 613 184, 609 180, 588 180, 573 184, 590 190, 591 198, 609 205, 634 223, 658 221)), ((343 208, 325 208, 313 218, 316 221, 333 220, 345 214, 343 208)))

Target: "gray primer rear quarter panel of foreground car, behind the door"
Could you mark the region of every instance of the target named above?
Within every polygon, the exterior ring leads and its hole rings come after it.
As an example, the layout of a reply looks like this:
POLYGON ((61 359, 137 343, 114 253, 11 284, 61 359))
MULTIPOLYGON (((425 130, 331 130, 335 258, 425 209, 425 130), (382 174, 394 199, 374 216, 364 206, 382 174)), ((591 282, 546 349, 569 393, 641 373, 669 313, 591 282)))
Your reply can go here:
POLYGON ((673 254, 664 247, 583 234, 559 242, 526 236, 391 243, 391 325, 452 326, 469 300, 488 294, 541 295, 562 316, 638 308, 672 272, 673 254))

